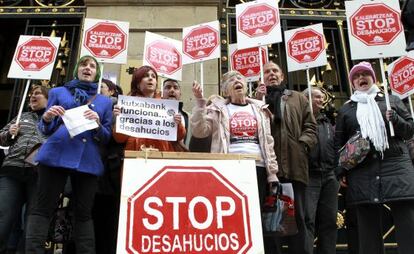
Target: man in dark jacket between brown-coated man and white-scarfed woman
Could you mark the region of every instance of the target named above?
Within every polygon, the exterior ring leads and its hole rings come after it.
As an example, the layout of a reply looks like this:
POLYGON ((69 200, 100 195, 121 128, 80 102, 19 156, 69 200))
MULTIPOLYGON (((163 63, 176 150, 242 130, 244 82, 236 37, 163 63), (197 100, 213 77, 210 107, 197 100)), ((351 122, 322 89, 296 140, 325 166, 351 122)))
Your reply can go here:
MULTIPOLYGON (((303 91, 308 96, 309 90, 303 91)), ((334 173, 334 128, 321 112, 325 95, 319 88, 312 88, 313 115, 318 124, 318 143, 309 155, 309 184, 306 187, 305 222, 309 237, 309 252, 318 236, 318 254, 336 253, 336 213, 339 182, 334 173)))

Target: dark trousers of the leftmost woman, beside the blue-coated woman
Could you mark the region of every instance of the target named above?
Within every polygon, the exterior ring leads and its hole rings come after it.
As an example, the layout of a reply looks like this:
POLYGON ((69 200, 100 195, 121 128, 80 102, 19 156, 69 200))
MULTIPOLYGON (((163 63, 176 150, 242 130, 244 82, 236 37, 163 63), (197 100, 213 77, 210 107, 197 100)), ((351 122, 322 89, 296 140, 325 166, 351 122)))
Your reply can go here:
POLYGON ((26 215, 31 209, 35 188, 35 174, 22 179, 6 175, 0 176, 0 253, 5 253, 8 239, 25 203, 25 218, 27 218, 26 215))

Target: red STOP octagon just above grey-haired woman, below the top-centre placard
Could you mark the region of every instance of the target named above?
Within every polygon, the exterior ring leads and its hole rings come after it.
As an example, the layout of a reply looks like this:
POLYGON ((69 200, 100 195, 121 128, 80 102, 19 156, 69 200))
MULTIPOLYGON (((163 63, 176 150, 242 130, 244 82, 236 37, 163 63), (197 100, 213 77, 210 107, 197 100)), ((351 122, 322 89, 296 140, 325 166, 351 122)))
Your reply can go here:
MULTIPOLYGON (((262 65, 267 62, 266 51, 260 48, 262 65)), ((231 55, 232 70, 239 71, 246 78, 260 75, 260 56, 258 47, 239 49, 231 55)))

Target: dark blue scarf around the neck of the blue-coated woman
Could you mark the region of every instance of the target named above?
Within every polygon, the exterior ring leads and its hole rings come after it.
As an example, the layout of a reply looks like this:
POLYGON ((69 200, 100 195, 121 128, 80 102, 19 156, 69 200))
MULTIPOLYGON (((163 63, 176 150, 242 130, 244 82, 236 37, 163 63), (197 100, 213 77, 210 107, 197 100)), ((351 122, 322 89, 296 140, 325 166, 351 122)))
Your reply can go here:
POLYGON ((88 102, 88 99, 95 95, 98 90, 98 84, 84 82, 78 79, 73 79, 67 82, 64 87, 69 89, 78 106, 85 105, 88 102))

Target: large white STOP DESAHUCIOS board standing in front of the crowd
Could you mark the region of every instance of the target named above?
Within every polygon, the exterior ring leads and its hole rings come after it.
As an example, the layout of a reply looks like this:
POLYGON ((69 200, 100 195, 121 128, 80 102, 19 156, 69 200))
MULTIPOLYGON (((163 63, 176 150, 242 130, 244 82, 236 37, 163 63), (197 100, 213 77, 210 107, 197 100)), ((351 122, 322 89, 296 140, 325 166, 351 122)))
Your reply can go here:
POLYGON ((258 196, 254 160, 125 158, 117 253, 264 253, 258 196))

